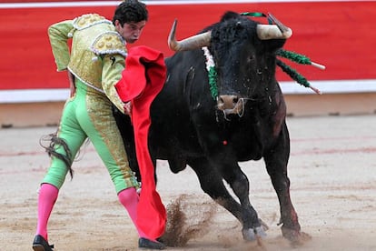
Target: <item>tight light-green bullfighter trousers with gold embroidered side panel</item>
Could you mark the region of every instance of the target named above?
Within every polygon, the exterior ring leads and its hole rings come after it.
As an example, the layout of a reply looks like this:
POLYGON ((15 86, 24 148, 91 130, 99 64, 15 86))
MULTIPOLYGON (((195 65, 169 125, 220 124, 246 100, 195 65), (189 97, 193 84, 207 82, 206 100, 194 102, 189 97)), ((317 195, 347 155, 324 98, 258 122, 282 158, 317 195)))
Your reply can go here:
MULTIPOLYGON (((64 105, 57 136, 65 141, 73 162, 87 137, 93 143, 114 182, 116 193, 139 184, 129 167, 124 143, 116 126, 112 104, 102 93, 76 79, 76 93, 64 105)), ((55 151, 66 155, 63 146, 55 151)), ((52 157, 51 165, 43 180, 57 188, 64 184, 68 168, 63 160, 52 157)))

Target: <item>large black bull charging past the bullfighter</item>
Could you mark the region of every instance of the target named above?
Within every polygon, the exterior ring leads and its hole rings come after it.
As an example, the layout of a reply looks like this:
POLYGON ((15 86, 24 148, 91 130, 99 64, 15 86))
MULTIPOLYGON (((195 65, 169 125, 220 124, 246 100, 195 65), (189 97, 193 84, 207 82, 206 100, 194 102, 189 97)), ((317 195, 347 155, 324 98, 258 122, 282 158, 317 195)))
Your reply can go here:
MULTIPOLYGON (((280 202, 282 235, 298 241, 301 226, 287 176, 286 105, 275 79, 275 53, 285 39, 262 40, 256 27, 249 18, 227 13, 204 30, 211 31, 208 49, 217 73, 215 99, 201 47, 165 59, 167 79, 151 107, 149 149, 154 166, 156 159, 167 160, 173 173, 191 166, 203 191, 242 223, 246 240, 263 236, 264 231, 249 200, 248 178, 238 162, 263 158, 280 202)), ((120 113, 115 116, 130 165, 137 172, 129 118, 120 113)))

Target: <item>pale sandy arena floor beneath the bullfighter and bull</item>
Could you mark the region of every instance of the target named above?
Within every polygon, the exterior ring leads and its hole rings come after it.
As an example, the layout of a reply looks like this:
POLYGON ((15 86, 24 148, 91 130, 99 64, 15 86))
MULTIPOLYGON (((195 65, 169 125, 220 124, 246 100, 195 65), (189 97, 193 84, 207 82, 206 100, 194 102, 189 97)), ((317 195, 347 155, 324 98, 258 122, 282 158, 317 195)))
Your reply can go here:
MULTIPOLYGON (((195 233, 168 250, 376 250, 376 115, 289 117, 292 203, 302 231, 312 236, 292 248, 277 226, 275 192, 262 162, 242 163, 251 202, 270 229, 263 246, 245 243, 241 226, 203 194, 190 168, 173 175, 158 163, 165 205, 180 198, 195 233), (197 224, 199 224, 197 226, 197 224)), ((39 138, 54 127, 0 129, 0 239, 3 251, 32 250, 36 190, 49 158, 39 138)), ((87 145, 61 190, 49 224, 55 250, 137 250, 134 226, 114 193, 106 169, 87 145)))

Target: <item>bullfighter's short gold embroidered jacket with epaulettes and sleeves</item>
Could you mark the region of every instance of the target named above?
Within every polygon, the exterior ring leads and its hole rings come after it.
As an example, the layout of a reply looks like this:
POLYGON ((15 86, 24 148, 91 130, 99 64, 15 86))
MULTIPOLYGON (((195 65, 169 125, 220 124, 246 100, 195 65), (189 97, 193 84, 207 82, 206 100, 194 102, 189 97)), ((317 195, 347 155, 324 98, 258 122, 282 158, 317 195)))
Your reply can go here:
POLYGON ((124 70, 125 41, 112 22, 97 14, 81 15, 51 25, 48 35, 57 71, 69 69, 85 85, 107 95, 124 112, 124 103, 114 85, 124 70), (111 64, 104 64, 105 60, 110 60, 111 64))

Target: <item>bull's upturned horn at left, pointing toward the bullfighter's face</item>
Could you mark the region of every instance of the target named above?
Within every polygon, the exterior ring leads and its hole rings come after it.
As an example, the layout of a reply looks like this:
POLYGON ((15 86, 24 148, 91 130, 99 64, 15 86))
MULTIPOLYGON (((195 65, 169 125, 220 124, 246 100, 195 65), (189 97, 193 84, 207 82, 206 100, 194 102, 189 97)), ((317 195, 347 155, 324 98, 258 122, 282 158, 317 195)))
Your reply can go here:
POLYGON ((167 41, 168 46, 173 51, 188 51, 210 45, 210 38, 212 33, 211 31, 199 35, 193 35, 181 41, 176 41, 176 24, 177 20, 175 19, 175 21, 173 21, 173 27, 171 28, 170 35, 168 35, 167 41))

